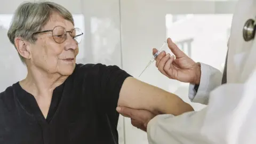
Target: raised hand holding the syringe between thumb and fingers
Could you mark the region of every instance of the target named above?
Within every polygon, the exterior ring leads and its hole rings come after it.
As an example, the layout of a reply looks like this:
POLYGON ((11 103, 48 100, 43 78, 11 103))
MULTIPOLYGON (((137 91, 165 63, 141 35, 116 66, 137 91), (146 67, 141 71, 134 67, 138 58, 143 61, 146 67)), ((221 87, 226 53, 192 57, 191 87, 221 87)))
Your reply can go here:
MULTIPOLYGON (((171 79, 177 79, 180 82, 199 84, 201 77, 200 63, 196 63, 183 53, 179 47, 172 42, 171 38, 167 39, 168 47, 175 55, 161 52, 156 58, 156 67, 165 76, 171 79)), ((153 49, 153 55, 157 49, 153 49)))

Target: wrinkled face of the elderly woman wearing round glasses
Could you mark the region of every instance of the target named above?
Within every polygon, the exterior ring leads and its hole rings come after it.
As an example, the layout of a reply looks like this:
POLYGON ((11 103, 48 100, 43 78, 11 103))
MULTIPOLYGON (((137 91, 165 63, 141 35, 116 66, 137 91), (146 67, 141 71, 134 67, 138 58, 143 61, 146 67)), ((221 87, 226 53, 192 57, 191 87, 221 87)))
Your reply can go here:
MULTIPOLYGON (((63 19, 58 13, 52 13, 49 22, 42 28, 52 30, 56 26, 62 26, 66 31, 74 29, 74 25, 63 19)), ((63 43, 55 42, 52 32, 37 34, 37 41, 30 45, 30 63, 50 74, 71 75, 76 65, 78 45, 73 37, 67 33, 63 43)), ((58 38, 58 37, 57 37, 58 38)))

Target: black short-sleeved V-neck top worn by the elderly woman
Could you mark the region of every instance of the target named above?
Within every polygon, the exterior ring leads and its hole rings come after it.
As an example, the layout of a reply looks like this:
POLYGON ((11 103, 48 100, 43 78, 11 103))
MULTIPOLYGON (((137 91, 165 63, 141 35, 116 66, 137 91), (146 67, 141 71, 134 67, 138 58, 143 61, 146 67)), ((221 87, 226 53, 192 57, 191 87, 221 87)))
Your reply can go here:
POLYGON ((0 143, 118 143, 116 107, 129 76, 117 66, 76 65, 53 91, 46 119, 18 82, 7 87, 0 93, 0 143))

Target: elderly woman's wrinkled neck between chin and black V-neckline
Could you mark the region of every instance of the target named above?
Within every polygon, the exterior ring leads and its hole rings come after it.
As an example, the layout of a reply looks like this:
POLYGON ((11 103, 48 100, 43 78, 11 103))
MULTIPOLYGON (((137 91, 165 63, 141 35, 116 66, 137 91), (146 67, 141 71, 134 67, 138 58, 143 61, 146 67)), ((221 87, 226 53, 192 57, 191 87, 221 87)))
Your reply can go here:
POLYGON ((38 68, 28 68, 27 77, 20 82, 20 85, 34 97, 49 97, 67 77, 58 73, 49 74, 38 68))

